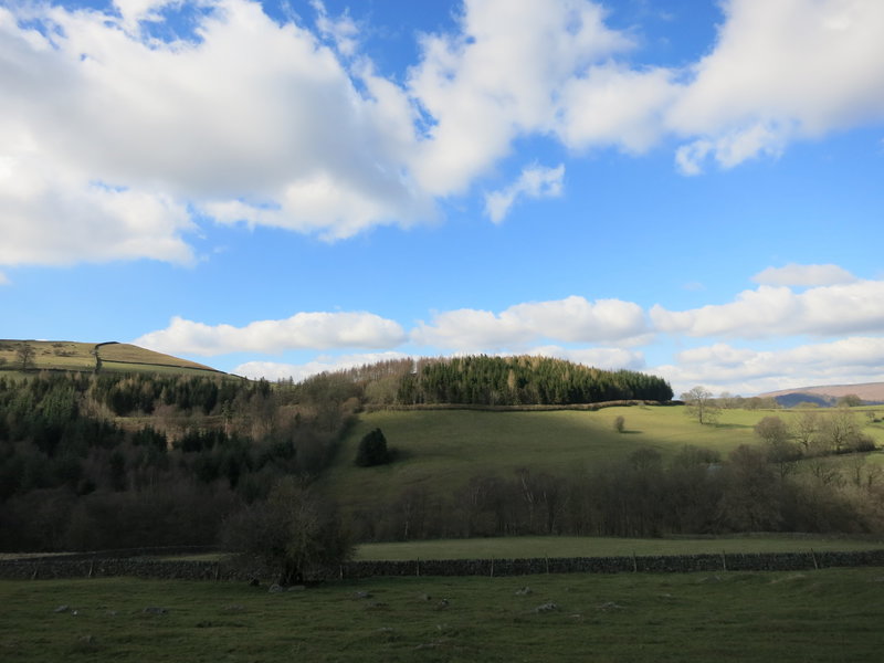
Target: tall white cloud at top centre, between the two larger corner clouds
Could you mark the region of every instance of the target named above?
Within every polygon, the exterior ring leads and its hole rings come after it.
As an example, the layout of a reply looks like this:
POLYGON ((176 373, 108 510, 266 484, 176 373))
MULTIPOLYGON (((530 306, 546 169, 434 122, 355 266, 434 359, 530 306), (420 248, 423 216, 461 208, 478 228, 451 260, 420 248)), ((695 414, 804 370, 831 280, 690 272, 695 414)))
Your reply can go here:
MULTIPOLYGON (((411 161, 434 194, 463 192, 520 135, 557 125, 558 97, 583 70, 633 46, 581 0, 464 3, 460 31, 425 35, 408 82, 432 123, 411 161)), ((591 113, 591 109, 586 112, 591 113)))

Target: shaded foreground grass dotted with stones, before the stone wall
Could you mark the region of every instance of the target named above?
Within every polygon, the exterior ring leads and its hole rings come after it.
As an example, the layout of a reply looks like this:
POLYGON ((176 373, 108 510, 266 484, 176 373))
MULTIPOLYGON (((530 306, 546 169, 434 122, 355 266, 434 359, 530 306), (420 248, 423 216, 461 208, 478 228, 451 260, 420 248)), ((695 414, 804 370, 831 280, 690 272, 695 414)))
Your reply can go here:
POLYGON ((0 581, 4 662, 881 657, 884 569, 244 583, 0 581), (66 609, 63 609, 66 607, 66 609))

